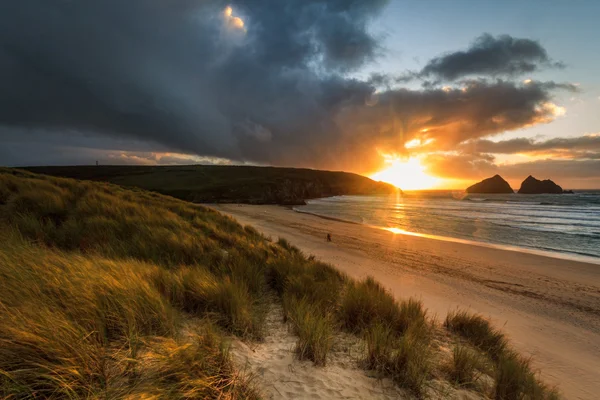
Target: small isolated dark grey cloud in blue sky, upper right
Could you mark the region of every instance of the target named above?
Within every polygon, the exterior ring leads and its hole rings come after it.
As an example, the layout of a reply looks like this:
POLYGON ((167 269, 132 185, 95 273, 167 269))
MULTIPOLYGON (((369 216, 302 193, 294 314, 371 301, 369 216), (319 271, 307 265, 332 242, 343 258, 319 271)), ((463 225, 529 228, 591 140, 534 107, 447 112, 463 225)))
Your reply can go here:
POLYGON ((562 68, 563 64, 552 61, 537 41, 484 34, 465 51, 432 59, 417 76, 454 81, 473 75, 517 76, 546 67, 562 68))

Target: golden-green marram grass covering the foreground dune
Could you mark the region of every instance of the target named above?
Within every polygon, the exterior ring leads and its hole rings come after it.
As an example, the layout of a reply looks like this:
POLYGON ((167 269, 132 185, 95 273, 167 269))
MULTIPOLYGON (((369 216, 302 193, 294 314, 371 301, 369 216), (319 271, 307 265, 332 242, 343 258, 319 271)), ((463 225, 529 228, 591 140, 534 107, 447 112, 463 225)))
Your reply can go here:
MULTIPOLYGON (((3 398, 257 398, 224 335, 260 339, 272 301, 300 359, 325 365, 335 335, 356 334, 364 366, 416 395, 438 362, 420 302, 160 194, 0 169, 0 243, 3 398)), ((445 325, 493 360, 495 398, 555 395, 487 321, 445 325)), ((459 386, 473 354, 454 352, 459 386)))

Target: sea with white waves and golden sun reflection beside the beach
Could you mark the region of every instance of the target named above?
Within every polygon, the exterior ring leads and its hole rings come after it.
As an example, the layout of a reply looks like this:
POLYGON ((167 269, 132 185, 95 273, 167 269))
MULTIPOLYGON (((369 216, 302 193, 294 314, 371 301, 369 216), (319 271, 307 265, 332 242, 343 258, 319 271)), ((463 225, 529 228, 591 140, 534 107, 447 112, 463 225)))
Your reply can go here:
POLYGON ((397 234, 600 264, 600 190, 560 195, 407 191, 309 200, 295 210, 397 234))

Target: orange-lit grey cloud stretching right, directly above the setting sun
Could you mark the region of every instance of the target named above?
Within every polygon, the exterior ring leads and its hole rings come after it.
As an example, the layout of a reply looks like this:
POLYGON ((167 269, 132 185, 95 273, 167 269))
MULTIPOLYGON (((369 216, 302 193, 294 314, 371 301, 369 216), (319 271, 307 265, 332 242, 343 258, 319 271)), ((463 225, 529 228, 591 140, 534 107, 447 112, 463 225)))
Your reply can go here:
POLYGON ((552 82, 519 84, 469 81, 462 88, 394 89, 379 92, 370 106, 352 105, 338 116, 347 140, 357 140, 388 153, 404 144, 429 143, 412 151, 454 150, 481 137, 547 123, 559 113, 552 91, 570 89, 552 82))

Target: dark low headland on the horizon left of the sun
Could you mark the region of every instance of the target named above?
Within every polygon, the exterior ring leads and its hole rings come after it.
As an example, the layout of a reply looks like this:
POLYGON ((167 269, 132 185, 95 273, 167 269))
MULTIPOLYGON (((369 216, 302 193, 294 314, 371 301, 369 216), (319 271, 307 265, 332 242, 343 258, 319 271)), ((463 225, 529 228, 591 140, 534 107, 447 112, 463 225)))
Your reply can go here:
POLYGON ((390 184, 347 172, 253 166, 27 167, 31 172, 139 187, 195 203, 304 204, 304 200, 395 193, 390 184))

